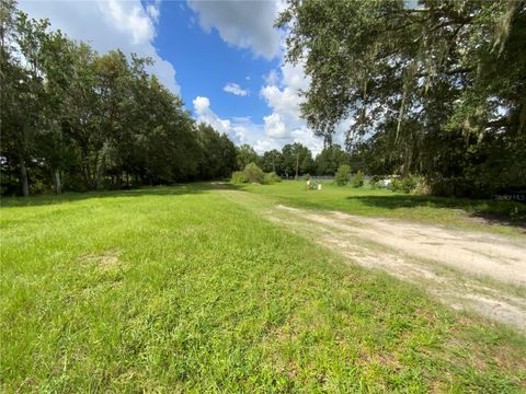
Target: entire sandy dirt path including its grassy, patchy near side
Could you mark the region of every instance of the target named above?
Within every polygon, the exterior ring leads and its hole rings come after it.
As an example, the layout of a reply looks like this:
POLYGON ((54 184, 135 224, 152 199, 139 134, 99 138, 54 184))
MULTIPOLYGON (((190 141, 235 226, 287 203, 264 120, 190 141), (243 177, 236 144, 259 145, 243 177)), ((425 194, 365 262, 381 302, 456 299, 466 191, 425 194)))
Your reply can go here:
POLYGON ((454 309, 474 311, 526 333, 524 237, 297 209, 264 196, 225 193, 351 263, 381 269, 454 309))

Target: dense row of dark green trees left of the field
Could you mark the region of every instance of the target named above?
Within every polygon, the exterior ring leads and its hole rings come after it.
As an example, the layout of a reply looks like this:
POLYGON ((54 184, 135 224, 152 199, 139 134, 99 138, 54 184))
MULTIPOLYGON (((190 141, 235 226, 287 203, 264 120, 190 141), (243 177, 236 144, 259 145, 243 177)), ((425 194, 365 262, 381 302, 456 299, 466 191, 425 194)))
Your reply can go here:
POLYGON ((228 177, 237 148, 196 125, 148 58, 98 54, 3 1, 2 194, 228 177))

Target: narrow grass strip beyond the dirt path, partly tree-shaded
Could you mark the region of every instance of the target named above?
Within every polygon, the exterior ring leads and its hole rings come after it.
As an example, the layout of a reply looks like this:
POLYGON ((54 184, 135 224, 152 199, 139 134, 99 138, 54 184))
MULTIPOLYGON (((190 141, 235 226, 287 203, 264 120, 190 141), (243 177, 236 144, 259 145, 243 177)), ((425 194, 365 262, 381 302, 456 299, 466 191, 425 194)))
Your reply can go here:
POLYGON ((244 190, 265 195, 294 207, 330 209, 351 215, 396 218, 455 228, 489 230, 505 234, 524 231, 526 205, 512 201, 473 200, 392 193, 368 187, 352 188, 322 183, 321 190, 306 190, 305 182, 245 185, 244 190), (515 223, 510 213, 517 211, 515 223), (482 218, 489 218, 484 221, 482 218), (488 223, 492 223, 489 225, 488 223), (522 224, 522 229, 521 225, 522 224))

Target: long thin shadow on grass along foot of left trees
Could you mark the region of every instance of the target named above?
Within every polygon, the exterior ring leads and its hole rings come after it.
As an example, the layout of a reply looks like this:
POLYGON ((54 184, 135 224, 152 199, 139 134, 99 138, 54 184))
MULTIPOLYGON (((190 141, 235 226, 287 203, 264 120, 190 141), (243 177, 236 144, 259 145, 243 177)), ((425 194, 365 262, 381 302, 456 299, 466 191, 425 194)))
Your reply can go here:
POLYGON ((171 186, 152 186, 136 189, 64 193, 61 195, 45 194, 32 197, 2 197, 1 208, 11 207, 36 207, 56 205, 71 201, 80 201, 90 198, 117 198, 117 197, 142 197, 142 196, 181 196, 203 194, 210 190, 230 189, 238 190, 238 186, 224 182, 199 182, 188 184, 176 184, 171 186))

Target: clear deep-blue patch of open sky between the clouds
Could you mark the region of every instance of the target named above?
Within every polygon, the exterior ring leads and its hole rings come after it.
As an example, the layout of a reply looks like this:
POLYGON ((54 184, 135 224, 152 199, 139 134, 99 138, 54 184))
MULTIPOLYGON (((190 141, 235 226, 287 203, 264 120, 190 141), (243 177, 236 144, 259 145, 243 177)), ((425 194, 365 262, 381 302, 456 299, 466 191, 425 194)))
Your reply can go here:
POLYGON ((206 96, 222 117, 251 116, 262 124, 268 109, 259 91, 264 77, 279 67, 281 59, 254 56, 250 48, 228 45, 216 28, 207 33, 198 15, 184 2, 160 5, 155 45, 159 55, 174 65, 186 105, 192 109, 196 96, 206 96), (235 92, 243 95, 224 91, 228 83, 237 84, 239 90, 235 92))

